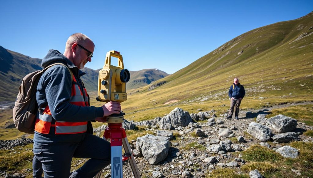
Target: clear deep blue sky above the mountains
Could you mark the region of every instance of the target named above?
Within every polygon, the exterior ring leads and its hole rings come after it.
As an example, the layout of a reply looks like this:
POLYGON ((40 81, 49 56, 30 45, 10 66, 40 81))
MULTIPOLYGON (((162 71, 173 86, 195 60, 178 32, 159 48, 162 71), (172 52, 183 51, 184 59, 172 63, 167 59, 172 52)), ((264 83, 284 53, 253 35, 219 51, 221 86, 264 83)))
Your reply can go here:
POLYGON ((88 68, 102 68, 115 50, 128 70, 172 74, 242 33, 311 11, 312 0, 2 0, 0 46, 42 59, 81 32, 96 46, 88 68))

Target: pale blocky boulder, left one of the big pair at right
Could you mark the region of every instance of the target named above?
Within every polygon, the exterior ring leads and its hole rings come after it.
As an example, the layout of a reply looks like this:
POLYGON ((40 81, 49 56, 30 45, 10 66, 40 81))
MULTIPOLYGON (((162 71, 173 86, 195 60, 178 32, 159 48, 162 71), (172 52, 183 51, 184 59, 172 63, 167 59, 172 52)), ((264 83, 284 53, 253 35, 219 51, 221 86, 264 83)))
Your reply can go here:
POLYGON ((269 127, 255 122, 249 124, 247 132, 261 142, 268 141, 272 133, 269 127))

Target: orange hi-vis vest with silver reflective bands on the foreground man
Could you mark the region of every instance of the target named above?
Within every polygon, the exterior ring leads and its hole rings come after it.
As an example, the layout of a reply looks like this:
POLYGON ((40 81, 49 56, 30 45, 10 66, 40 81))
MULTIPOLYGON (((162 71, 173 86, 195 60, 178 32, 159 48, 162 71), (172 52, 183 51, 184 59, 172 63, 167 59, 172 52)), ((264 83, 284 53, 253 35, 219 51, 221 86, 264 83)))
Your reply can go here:
MULTIPOLYGON (((83 84, 84 87, 84 84, 83 84)), ((71 98, 69 100, 71 104, 77 106, 89 106, 87 90, 84 87, 84 92, 80 90, 77 84, 77 80, 73 75, 72 81, 72 92, 71 98)), ((48 134, 50 127, 55 127, 55 134, 74 134, 74 133, 84 133, 87 131, 87 121, 86 122, 63 122, 55 121, 55 124, 51 124, 52 119, 49 106, 46 106, 43 114, 39 114, 39 117, 35 123, 35 131, 39 133, 48 134)))

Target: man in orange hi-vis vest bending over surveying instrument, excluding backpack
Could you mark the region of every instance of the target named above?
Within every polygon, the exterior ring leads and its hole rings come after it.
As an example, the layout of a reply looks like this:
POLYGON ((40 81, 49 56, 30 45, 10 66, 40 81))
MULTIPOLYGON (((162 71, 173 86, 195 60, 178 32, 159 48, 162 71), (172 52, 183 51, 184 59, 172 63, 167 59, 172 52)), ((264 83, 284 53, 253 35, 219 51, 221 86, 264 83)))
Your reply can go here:
POLYGON ((46 70, 37 86, 40 111, 33 153, 34 160, 42 163, 45 178, 91 178, 110 164, 110 143, 92 135, 90 121, 105 122, 106 116, 121 112, 121 104, 113 101, 101 107, 89 106, 80 79, 85 73, 80 69, 91 62, 94 48, 89 37, 75 33, 67 40, 64 54, 51 49, 42 60, 43 67, 63 64, 46 70), (73 157, 91 159, 70 174, 73 157))

